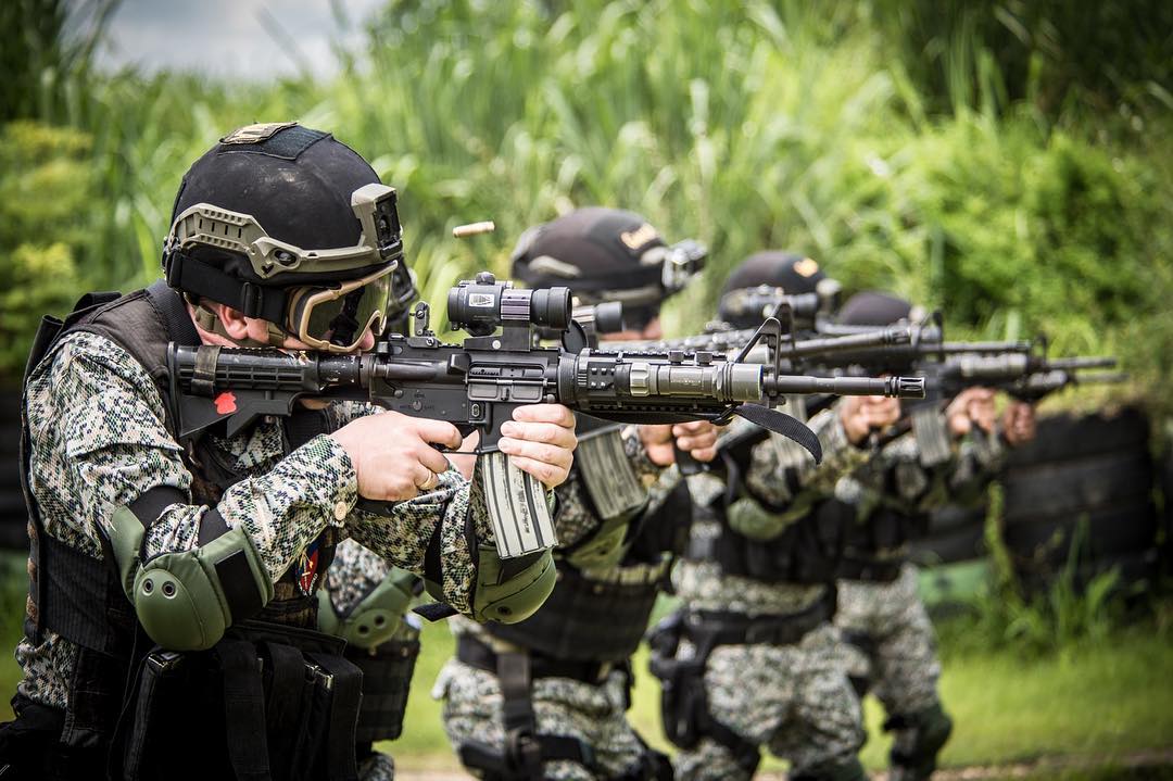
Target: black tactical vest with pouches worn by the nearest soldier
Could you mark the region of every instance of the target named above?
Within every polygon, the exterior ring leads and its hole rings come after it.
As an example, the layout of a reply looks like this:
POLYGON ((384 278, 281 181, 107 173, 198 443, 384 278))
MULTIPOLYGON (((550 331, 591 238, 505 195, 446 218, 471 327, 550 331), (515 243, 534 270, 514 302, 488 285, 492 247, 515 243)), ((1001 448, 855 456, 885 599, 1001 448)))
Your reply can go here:
MULTIPOLYGON (((45 318, 26 380, 62 337, 76 332, 110 339, 147 369, 174 432, 167 345, 198 344, 178 294, 163 283, 122 297, 91 293, 65 322, 45 318)), ((286 427, 286 451, 324 430, 321 413, 300 416, 286 427)), ((184 724, 187 728, 210 727, 183 735, 183 746, 198 747, 197 759, 206 763, 201 766, 205 773, 258 779, 355 776, 354 717, 346 714, 357 714, 361 674, 341 658, 340 639, 316 631, 317 599, 301 593, 294 568, 274 584, 267 605, 251 620, 237 622, 210 651, 151 648, 122 590, 109 548, 103 545, 102 561, 45 532, 27 474, 27 425, 21 446, 30 542, 26 636, 39 645, 43 632, 52 631, 79 647, 60 740, 49 743, 53 751, 88 751, 90 758, 94 752, 109 753, 111 775, 156 777, 167 762, 184 761, 177 760, 178 755, 167 756, 168 741, 163 740, 175 735, 170 725, 184 724), (312 717, 314 711, 317 717, 312 717), (348 734, 334 734, 331 718, 340 718, 339 726, 343 733, 348 727, 348 734), (266 751, 266 736, 272 751, 266 751), (326 748, 335 742, 340 748, 326 748)), ((206 439, 189 446, 182 457, 194 477, 192 503, 215 508, 223 491, 244 477, 231 471, 206 439)), ((141 518, 151 518, 175 502, 187 503, 187 497, 161 487, 140 497, 131 509, 141 518)), ((330 565, 334 535, 330 530, 319 541, 318 572, 330 565)), ((233 573, 218 572, 228 591, 232 584, 225 579, 233 573)), ((316 585, 311 583, 311 589, 316 585)), ((47 713, 52 708, 30 701, 25 705, 38 719, 47 719, 49 728, 60 721, 60 714, 47 713)), ((23 719, 23 711, 18 712, 23 719)), ((177 748, 172 743, 170 751, 177 748)), ((91 763, 77 772, 79 777, 95 773, 91 763)), ((72 773, 67 768, 61 777, 73 777, 72 773)), ((182 769, 170 767, 165 773, 182 774, 182 769)))

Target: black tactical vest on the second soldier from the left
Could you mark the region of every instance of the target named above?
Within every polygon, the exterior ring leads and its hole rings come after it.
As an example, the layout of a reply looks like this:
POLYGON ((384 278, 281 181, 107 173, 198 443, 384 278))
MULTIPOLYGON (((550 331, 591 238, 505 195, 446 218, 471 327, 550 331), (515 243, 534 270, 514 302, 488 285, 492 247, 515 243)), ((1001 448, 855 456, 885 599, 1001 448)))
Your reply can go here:
POLYGON ((534 616, 486 629, 551 659, 624 661, 643 639, 656 597, 685 545, 691 504, 682 481, 657 510, 629 528, 629 548, 617 568, 584 571, 562 557, 558 583, 534 616))

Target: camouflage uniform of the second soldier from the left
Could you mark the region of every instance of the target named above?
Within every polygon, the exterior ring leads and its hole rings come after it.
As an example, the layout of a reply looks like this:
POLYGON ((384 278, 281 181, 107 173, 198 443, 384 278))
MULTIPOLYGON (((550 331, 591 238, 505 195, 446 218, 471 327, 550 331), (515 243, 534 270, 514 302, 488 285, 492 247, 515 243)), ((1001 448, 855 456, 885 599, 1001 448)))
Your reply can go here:
MULTIPOLYGON (((633 427, 626 427, 622 437, 624 451, 649 495, 645 512, 651 512, 679 482, 679 471, 653 464, 633 427)), ((555 489, 560 508, 560 545, 571 545, 584 539, 601 525, 601 519, 589 509, 584 498, 585 490, 576 462, 570 478, 555 489)), ((592 579, 623 579, 663 575, 642 572, 639 569, 638 565, 604 563, 597 570, 590 570, 589 576, 592 579)), ((450 626, 457 637, 473 636, 495 650, 524 651, 494 638, 484 626, 470 620, 455 618, 450 626)), ((556 677, 535 677, 533 680, 536 733, 577 738, 590 746, 598 769, 605 774, 603 777, 621 776, 638 768, 645 752, 644 743, 626 719, 629 673, 618 665, 611 667, 615 668, 605 674, 605 680, 595 685, 556 677)), ((459 747, 469 740, 494 747, 504 746, 503 699, 500 682, 493 672, 450 659, 441 670, 432 694, 445 700, 445 729, 453 746, 459 747)), ((544 765, 544 777, 594 781, 599 776, 577 762, 550 761, 544 765)))

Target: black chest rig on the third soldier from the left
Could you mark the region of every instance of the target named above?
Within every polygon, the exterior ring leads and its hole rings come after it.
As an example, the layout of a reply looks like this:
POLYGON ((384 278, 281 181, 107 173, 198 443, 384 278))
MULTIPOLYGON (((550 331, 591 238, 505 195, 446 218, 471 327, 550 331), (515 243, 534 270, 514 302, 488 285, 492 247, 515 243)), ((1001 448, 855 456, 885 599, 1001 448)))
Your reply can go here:
MULTIPOLYGON (((707 505, 696 508, 698 525, 716 524, 717 534, 698 535, 694 530, 686 558, 714 562, 726 575, 764 583, 833 583, 842 551, 840 523, 823 523, 816 511, 811 511, 765 539, 741 534, 730 523, 731 514, 747 508, 762 514, 781 514, 788 509, 772 507, 755 496, 743 480, 751 449, 761 444, 766 436, 767 433, 761 432, 759 436, 745 437, 733 447, 723 448, 720 457, 727 476, 725 491, 707 505)), ((798 485, 792 488, 798 490, 798 485)))

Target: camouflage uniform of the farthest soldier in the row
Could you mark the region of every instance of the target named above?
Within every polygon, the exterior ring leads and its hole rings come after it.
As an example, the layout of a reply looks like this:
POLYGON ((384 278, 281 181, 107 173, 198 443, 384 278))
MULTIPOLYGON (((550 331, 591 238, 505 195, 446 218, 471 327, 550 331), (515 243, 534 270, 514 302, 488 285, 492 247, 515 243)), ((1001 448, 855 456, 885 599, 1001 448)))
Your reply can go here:
MULTIPOLYGON (((944 433, 944 416, 938 421, 944 433)), ((855 509, 866 524, 881 508, 909 516, 927 514, 947 502, 972 501, 1001 467, 1004 448, 998 436, 975 433, 952 442, 948 454, 928 459, 914 434, 881 450, 876 459, 835 487, 835 497, 855 509), (935 461, 935 463, 934 463, 935 461)), ((916 731, 901 726, 903 717, 941 707, 933 624, 917 593, 916 568, 907 562, 907 545, 870 551, 880 563, 900 568, 890 582, 839 580, 835 624, 845 641, 841 653, 859 688, 870 685, 894 728, 894 753, 914 751, 916 731)))

